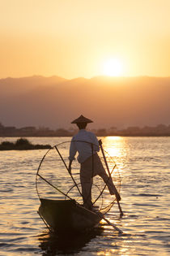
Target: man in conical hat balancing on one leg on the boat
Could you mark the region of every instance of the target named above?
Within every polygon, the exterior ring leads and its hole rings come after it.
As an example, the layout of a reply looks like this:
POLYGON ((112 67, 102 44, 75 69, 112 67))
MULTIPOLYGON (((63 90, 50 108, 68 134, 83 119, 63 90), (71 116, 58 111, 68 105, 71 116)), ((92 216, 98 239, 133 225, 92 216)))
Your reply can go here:
MULTIPOLYGON (((88 123, 93 123, 91 119, 87 119, 80 115, 78 119, 74 119, 71 124, 77 124, 79 132, 74 135, 70 143, 70 156, 68 170, 71 174, 71 163, 75 159, 75 154, 78 152, 78 162, 80 163, 80 182, 82 185, 83 205, 91 210, 91 182, 92 177, 99 175, 108 186, 109 193, 115 194, 113 180, 109 177, 100 161, 97 152, 100 151, 101 140, 98 141, 93 132, 87 132, 88 123), (83 142, 84 141, 84 142, 83 142), (92 156, 93 152, 93 156, 92 156)), ((119 198, 121 200, 121 198, 119 198)))

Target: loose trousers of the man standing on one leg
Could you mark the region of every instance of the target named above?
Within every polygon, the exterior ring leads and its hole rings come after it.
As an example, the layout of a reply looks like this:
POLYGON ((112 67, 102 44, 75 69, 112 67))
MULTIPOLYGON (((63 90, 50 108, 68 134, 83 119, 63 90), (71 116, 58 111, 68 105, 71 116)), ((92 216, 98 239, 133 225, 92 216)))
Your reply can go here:
POLYGON ((109 177, 104 170, 104 166, 101 163, 100 157, 98 154, 93 155, 93 168, 92 168, 92 156, 87 158, 86 161, 81 163, 80 167, 80 182, 82 185, 82 195, 83 195, 83 204, 88 209, 91 209, 91 179, 94 176, 100 176, 105 184, 108 186, 109 193, 114 194, 114 185, 113 180, 109 177))

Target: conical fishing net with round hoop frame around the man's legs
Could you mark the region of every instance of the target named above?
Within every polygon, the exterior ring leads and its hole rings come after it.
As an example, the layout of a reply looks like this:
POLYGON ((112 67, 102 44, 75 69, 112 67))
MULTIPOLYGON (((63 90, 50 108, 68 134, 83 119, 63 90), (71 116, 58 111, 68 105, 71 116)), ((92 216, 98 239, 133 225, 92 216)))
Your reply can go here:
MULTIPOLYGON (((87 143, 81 141, 82 143, 87 143)), ((82 186, 80 182, 80 164, 76 160, 72 163, 71 175, 69 166, 70 141, 62 142, 48 150, 41 159, 36 173, 36 191, 39 198, 69 200, 74 199, 83 205, 82 186)), ((118 193, 121 189, 121 178, 113 158, 104 150, 97 153, 109 177, 112 176, 113 184, 118 193), (109 171, 109 173, 108 173, 109 171)), ((93 163, 91 163, 93 165, 93 163)), ((93 167, 91 166, 91 169, 93 167)), ((115 202, 115 195, 110 195, 107 182, 100 176, 91 178, 91 201, 94 208, 103 214, 108 212, 115 202)))

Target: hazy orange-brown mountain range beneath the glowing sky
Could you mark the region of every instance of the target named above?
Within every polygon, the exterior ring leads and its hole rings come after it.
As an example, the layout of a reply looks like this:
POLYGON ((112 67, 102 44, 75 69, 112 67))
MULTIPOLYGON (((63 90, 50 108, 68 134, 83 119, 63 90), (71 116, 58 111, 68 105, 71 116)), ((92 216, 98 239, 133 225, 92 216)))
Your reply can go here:
POLYGON ((79 115, 91 128, 170 124, 170 77, 31 76, 0 80, 4 125, 69 128, 79 115))

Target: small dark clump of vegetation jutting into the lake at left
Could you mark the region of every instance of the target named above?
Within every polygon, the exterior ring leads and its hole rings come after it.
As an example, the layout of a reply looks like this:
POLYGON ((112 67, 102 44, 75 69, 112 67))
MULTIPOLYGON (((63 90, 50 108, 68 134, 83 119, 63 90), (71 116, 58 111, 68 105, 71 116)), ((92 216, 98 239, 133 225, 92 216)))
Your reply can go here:
POLYGON ((0 144, 0 150, 44 150, 51 149, 51 145, 33 145, 25 138, 20 138, 15 142, 3 141, 0 144))

